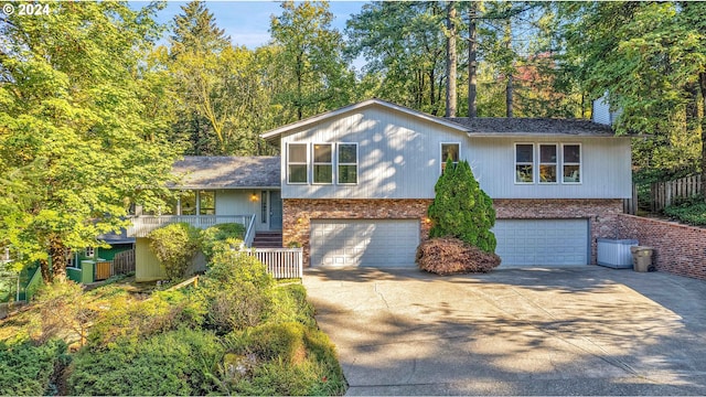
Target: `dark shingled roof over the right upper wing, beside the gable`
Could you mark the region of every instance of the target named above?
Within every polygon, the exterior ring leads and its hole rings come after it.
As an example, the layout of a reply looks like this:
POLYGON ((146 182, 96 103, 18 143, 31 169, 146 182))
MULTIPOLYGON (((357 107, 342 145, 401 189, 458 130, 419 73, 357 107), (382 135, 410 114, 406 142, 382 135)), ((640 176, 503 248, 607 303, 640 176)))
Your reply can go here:
POLYGON ((550 118, 447 117, 469 130, 469 136, 614 136, 610 126, 590 120, 550 118))

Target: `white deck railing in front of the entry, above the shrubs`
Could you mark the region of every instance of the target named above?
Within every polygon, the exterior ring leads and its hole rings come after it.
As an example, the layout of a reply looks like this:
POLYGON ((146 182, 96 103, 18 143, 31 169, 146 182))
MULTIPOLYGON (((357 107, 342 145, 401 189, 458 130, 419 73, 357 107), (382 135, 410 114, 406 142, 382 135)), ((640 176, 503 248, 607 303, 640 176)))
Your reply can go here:
POLYGON ((246 227, 245 234, 252 227, 255 215, 140 215, 131 218, 132 226, 128 227, 128 236, 147 237, 147 235, 162 226, 184 222, 199 228, 207 228, 224 223, 239 223, 246 227))

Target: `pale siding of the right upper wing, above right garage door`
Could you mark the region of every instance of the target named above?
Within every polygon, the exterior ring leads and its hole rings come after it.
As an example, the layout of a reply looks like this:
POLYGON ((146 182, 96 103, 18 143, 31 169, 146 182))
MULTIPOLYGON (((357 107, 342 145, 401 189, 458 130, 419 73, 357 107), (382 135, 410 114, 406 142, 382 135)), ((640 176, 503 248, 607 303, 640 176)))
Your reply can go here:
MULTIPOLYGON (((481 187, 493 198, 629 198, 629 138, 472 138, 461 147, 481 187), (514 143, 580 143, 580 184, 515 184, 514 143)), ((535 154, 535 172, 538 162, 535 154)), ((560 165, 560 164, 559 164, 560 165)), ((558 171, 560 175, 560 170, 558 171)), ((560 178, 559 178, 560 180, 560 178)))

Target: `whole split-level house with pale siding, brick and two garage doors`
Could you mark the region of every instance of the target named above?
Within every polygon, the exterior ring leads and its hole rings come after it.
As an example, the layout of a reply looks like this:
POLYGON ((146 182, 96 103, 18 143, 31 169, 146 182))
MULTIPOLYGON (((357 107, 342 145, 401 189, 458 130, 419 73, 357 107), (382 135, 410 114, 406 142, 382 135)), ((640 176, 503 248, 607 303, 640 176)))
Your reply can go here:
POLYGON ((588 120, 439 118, 371 99, 261 137, 279 158, 176 164, 203 175, 190 214, 208 215, 206 192, 214 222, 253 215, 243 222, 281 229, 282 245, 301 246, 310 267, 414 267, 448 158, 468 160, 493 198, 505 267, 595 264, 596 239, 632 193, 630 138, 588 120), (277 180, 245 180, 258 173, 277 180), (221 183, 221 174, 243 181, 221 183))

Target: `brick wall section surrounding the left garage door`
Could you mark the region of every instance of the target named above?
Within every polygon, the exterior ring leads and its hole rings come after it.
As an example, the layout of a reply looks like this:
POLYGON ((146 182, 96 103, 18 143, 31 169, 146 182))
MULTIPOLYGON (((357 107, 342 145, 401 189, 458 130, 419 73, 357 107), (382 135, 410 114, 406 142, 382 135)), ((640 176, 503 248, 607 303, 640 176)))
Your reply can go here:
POLYGON ((304 266, 310 266, 311 219, 419 219, 421 239, 429 236, 426 222, 431 200, 282 200, 282 243, 296 242, 303 249, 304 266))

